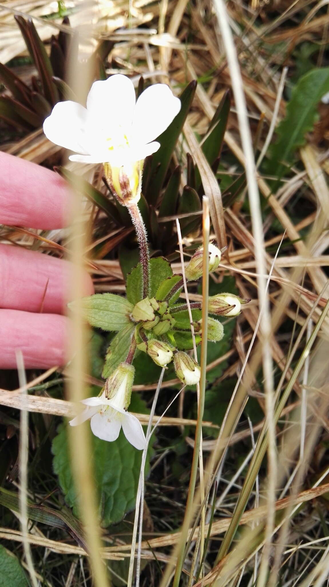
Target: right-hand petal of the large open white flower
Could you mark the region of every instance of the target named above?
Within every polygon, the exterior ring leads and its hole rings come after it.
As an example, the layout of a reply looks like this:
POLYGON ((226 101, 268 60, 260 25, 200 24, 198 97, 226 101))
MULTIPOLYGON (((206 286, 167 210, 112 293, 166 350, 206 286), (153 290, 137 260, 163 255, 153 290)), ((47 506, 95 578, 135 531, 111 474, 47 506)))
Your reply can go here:
POLYGON ((150 143, 169 126, 180 111, 180 99, 165 83, 156 83, 140 94, 133 113, 132 141, 150 143))

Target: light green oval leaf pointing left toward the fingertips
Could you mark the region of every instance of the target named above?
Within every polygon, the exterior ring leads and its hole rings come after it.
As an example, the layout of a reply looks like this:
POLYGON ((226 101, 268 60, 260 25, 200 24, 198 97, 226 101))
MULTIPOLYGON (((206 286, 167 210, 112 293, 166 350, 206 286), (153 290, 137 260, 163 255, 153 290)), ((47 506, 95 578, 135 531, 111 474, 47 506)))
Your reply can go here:
POLYGON ((78 302, 68 303, 72 310, 80 308, 84 319, 103 330, 121 330, 131 322, 133 305, 126 298, 115 294, 94 294, 78 302))

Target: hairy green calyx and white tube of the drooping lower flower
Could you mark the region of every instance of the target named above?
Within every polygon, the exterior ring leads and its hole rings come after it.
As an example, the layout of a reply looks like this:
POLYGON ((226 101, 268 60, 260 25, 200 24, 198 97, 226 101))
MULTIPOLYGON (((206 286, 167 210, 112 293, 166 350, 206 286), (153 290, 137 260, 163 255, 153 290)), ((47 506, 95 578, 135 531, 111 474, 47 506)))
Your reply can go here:
POLYGON ((131 390, 135 369, 129 363, 120 363, 105 383, 104 394, 111 406, 118 410, 126 410, 131 400, 131 390))

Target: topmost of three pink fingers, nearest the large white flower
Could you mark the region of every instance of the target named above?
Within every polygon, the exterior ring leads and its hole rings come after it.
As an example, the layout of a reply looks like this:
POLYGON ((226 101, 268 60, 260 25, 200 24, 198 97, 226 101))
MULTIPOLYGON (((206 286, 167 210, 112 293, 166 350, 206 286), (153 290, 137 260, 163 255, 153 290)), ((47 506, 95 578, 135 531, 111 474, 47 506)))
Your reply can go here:
POLYGON ((53 230, 68 224, 67 183, 54 171, 0 153, 0 224, 53 230))

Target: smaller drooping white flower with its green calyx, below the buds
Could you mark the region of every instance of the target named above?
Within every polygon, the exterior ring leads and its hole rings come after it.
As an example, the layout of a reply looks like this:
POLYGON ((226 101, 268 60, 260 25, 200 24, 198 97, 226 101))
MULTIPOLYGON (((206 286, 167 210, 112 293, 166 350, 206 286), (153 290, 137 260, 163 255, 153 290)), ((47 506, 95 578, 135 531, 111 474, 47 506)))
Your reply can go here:
POLYGON ((132 378, 133 367, 121 363, 107 380, 101 396, 82 400, 87 407, 70 421, 71 426, 77 426, 91 418, 92 433, 109 442, 118 438, 122 427, 126 439, 132 446, 142 450, 146 443, 142 425, 135 416, 126 411, 127 404, 130 403, 132 378), (129 372, 130 370, 132 372, 129 372))

